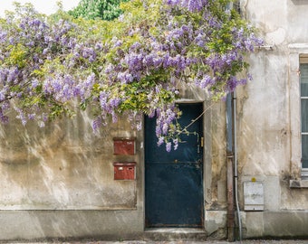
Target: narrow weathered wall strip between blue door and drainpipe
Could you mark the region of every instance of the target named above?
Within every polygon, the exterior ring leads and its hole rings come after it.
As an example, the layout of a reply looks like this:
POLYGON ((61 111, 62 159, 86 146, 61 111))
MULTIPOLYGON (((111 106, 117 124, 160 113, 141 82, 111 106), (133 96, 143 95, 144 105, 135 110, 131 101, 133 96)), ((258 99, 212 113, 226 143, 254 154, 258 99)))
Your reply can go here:
POLYGON ((208 239, 226 239, 226 104, 205 104, 205 230, 208 239))

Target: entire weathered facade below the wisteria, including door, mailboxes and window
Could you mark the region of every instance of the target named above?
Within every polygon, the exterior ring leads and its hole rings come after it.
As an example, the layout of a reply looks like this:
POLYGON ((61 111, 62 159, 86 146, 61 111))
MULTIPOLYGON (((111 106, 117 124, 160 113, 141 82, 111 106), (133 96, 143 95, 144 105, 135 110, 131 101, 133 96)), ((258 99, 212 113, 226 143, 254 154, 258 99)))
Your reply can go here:
POLYGON ((248 57, 254 80, 230 102, 180 88, 177 151, 156 145, 147 117, 98 134, 86 112, 1 126, 0 239, 307 238, 308 2, 240 9, 265 38, 248 57))

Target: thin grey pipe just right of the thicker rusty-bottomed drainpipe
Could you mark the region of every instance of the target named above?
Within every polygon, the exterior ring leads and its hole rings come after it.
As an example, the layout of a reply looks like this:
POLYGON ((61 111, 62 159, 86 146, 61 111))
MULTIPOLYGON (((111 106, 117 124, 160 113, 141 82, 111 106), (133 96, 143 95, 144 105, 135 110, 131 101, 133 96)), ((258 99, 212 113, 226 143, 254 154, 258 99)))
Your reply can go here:
POLYGON ((234 159, 235 159, 235 194, 236 194, 236 212, 237 212, 237 221, 239 229, 239 239, 242 241, 242 220, 241 212, 238 204, 238 175, 237 175, 237 129, 236 129, 236 90, 233 92, 233 127, 234 127, 234 159))

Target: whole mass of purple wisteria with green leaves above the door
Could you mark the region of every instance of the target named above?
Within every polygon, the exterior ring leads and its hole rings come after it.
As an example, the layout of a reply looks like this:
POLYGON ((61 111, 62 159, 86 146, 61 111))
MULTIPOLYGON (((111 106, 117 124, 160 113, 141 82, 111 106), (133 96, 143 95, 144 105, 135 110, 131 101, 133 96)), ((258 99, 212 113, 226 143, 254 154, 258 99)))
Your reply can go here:
MULTIPOLYGON (((227 1, 132 0, 111 22, 48 18, 17 6, 0 20, 0 118, 12 106, 23 124, 93 108, 94 130, 126 115, 141 128, 157 117, 159 142, 178 147, 178 82, 222 99, 246 79, 245 54, 261 41, 227 1), (13 103, 11 101, 14 101, 13 103)), ((249 78, 249 75, 247 75, 249 78)))

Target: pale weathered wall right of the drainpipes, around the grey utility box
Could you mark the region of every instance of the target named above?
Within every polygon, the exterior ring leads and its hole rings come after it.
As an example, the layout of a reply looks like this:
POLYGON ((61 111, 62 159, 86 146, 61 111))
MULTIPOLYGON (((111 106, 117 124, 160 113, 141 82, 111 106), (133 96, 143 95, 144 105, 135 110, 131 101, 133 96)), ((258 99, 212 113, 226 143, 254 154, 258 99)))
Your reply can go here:
POLYGON ((265 37, 265 46, 248 59, 254 80, 237 90, 241 210, 244 182, 263 183, 265 202, 265 211, 243 211, 245 236, 307 236, 308 189, 291 186, 292 180, 305 184, 298 64, 299 55, 308 53, 308 3, 244 0, 241 10, 265 37), (281 224, 286 220, 288 227, 281 224))

